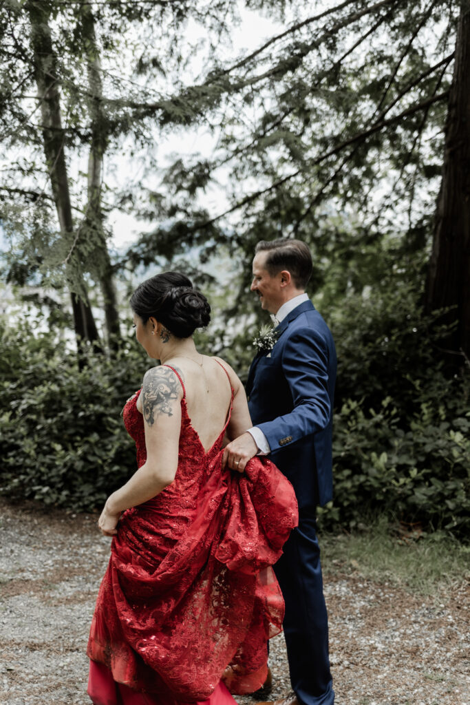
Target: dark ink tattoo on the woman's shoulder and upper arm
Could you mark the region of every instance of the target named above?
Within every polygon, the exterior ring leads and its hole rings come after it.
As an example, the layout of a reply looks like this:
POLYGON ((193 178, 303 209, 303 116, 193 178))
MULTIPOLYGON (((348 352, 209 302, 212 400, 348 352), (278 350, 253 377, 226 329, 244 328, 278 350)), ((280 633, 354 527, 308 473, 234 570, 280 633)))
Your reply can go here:
MULTIPOLYGON (((179 369, 178 374, 183 377, 179 369)), ((161 365, 147 372, 142 386, 142 410, 149 426, 159 416, 173 416, 180 388, 178 377, 169 367, 161 365)))

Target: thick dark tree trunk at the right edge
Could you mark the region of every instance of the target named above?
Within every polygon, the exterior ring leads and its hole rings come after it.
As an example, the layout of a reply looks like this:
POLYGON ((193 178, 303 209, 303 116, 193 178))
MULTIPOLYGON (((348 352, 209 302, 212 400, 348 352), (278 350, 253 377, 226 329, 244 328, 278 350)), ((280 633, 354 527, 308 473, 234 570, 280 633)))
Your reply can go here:
MULTIPOLYGON (((462 6, 445 127, 443 179, 435 213, 426 310, 449 309, 441 341, 452 367, 470 358, 470 7, 462 6)), ((440 319, 442 320, 442 319, 440 319)))

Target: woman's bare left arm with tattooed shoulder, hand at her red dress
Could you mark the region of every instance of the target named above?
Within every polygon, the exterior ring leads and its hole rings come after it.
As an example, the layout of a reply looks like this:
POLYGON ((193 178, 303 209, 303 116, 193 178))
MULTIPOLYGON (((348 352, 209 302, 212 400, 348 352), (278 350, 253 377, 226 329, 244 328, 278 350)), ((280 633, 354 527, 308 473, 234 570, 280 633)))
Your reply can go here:
MULTIPOLYGON (((178 370, 179 372, 179 370, 178 370)), ((140 394, 147 460, 130 480, 113 492, 98 525, 106 536, 117 533, 120 514, 155 497, 175 479, 181 429, 180 381, 169 367, 154 367, 144 376, 140 394)))

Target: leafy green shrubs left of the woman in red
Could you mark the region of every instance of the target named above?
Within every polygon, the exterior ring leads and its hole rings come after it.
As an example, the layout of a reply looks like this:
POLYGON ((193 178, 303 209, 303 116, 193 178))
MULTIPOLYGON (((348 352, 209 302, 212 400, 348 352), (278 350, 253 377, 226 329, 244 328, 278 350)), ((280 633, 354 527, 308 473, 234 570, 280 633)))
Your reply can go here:
POLYGON ((108 359, 76 355, 49 335, 1 331, 0 486, 18 498, 99 507, 135 471, 120 417, 151 361, 136 345, 108 359))

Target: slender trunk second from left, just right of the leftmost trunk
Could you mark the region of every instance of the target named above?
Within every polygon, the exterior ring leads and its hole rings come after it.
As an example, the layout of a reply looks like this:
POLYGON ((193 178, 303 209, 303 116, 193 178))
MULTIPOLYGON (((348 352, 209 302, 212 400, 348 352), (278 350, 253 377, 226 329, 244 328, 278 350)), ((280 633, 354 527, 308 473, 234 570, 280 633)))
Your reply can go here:
POLYGON ((103 84, 101 81, 101 62, 94 31, 94 17, 89 5, 82 7, 82 29, 87 56, 87 73, 89 85, 88 109, 91 117, 92 143, 88 158, 88 204, 87 223, 94 230, 99 243, 99 283, 104 298, 104 315, 111 348, 118 347, 120 338, 119 314, 116 300, 116 288, 113 283, 113 266, 106 247, 106 234, 103 228, 101 212, 101 175, 103 155, 108 145, 106 116, 103 114, 101 99, 103 84))

